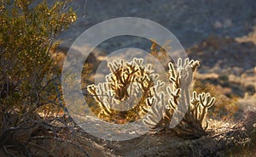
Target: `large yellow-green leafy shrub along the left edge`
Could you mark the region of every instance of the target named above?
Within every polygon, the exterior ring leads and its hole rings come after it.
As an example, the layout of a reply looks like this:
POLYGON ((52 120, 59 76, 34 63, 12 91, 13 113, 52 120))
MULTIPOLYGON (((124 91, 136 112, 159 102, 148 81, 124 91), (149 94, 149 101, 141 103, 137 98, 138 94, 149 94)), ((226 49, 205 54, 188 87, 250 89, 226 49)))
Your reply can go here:
POLYGON ((60 71, 51 53, 76 15, 68 1, 32 0, 1 1, 0 14, 0 145, 26 143, 13 132, 38 128, 40 108, 61 108, 60 71))

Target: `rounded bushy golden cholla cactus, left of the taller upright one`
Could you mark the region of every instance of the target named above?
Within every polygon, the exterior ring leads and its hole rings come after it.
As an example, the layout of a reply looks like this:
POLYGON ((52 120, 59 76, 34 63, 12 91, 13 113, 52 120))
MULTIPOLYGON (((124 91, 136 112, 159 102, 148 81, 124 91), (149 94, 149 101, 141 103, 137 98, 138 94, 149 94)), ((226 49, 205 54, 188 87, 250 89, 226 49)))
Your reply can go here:
POLYGON ((143 66, 143 59, 133 59, 124 63, 114 60, 108 63, 111 73, 106 76, 106 82, 87 87, 100 105, 102 118, 130 119, 134 121, 148 109, 147 98, 152 98, 152 87, 163 86, 158 75, 152 70, 151 64, 143 66), (132 116, 132 117, 131 117, 132 116))

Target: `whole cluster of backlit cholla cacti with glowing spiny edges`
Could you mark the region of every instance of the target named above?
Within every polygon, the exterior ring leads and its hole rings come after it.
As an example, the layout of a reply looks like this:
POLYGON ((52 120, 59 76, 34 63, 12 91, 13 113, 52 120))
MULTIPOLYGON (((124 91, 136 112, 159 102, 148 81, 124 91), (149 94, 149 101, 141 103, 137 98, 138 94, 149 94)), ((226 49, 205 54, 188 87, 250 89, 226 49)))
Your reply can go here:
POLYGON ((177 67, 174 65, 169 63, 170 82, 165 83, 151 64, 143 65, 143 59, 108 63, 111 73, 106 82, 87 87, 102 109, 99 116, 108 117, 108 121, 136 121, 146 116, 143 122, 152 129, 162 128, 188 137, 205 135, 207 109, 215 98, 209 93, 189 91, 193 73, 200 64, 178 59, 177 67))

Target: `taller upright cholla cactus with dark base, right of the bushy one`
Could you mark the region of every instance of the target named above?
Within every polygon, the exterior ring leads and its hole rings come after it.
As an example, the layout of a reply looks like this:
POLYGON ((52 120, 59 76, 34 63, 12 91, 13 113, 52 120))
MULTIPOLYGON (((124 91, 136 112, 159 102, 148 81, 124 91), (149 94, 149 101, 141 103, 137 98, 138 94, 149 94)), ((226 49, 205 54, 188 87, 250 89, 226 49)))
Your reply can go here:
MULTIPOLYGON (((201 137, 204 135, 207 126, 203 126, 203 121, 207 115, 207 109, 214 104, 215 98, 209 93, 198 94, 193 92, 192 98, 189 95, 189 85, 192 82, 193 73, 199 66, 198 61, 185 59, 177 60, 177 69, 172 63, 169 64, 170 81, 172 87, 166 87, 168 98, 166 101, 166 113, 163 115, 161 126, 170 128, 171 131, 181 136, 201 137), (178 121, 183 117, 181 121, 178 121), (177 123, 178 122, 178 123, 177 123), (174 127, 175 126, 175 127, 174 127), (174 128, 172 128, 174 127, 174 128)), ((157 93, 154 98, 159 98, 157 93)), ((151 126, 160 126, 160 122, 154 123, 158 114, 148 116, 145 123, 151 126)))

